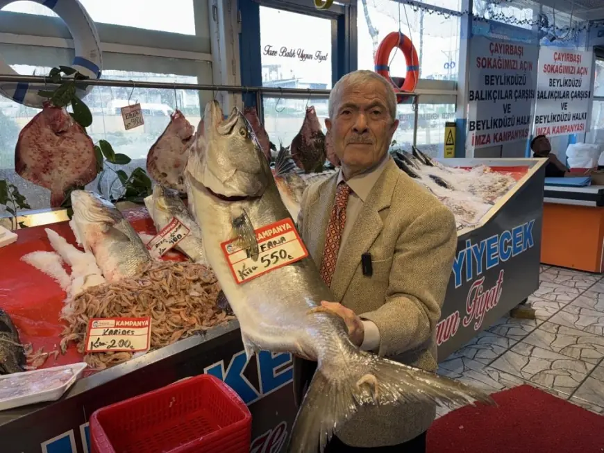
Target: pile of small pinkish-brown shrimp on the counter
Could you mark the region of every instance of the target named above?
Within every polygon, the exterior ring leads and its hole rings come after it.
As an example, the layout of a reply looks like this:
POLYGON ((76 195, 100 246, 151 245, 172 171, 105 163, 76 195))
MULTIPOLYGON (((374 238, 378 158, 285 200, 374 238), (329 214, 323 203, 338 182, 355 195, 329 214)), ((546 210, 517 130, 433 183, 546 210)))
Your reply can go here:
MULTIPOLYGON (((219 309, 220 286, 208 266, 187 262, 151 262, 140 275, 90 287, 68 302, 62 312, 67 326, 62 332, 63 354, 74 341, 85 353, 90 318, 151 316, 151 348, 203 332, 234 316, 219 309)), ((97 370, 131 359, 132 352, 91 352, 84 360, 97 370)))

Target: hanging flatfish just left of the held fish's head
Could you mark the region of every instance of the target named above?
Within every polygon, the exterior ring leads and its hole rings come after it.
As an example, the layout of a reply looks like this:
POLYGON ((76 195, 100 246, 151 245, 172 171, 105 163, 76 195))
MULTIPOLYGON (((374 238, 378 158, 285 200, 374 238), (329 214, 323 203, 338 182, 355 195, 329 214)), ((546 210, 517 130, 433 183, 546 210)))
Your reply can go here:
POLYGON ((184 194, 183 170, 194 139, 194 127, 179 110, 174 111, 168 126, 147 153, 149 176, 158 184, 184 194))

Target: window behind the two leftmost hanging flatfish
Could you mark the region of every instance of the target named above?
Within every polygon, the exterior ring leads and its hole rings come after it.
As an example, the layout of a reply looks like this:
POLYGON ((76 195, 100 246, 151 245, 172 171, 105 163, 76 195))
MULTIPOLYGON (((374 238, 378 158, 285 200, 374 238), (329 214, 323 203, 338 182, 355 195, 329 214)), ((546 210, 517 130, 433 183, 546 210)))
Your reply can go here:
MULTIPOLYGON (((26 65, 12 65, 12 69, 19 74, 48 74, 49 67, 32 67, 26 65)), ((154 74, 149 72, 115 71, 103 72, 103 78, 122 80, 161 81, 166 83, 198 83, 196 77, 178 76, 174 74, 154 74)), ((87 133, 96 144, 100 139, 105 139, 112 145, 116 153, 131 157, 132 162, 119 168, 127 173, 136 167, 146 168, 146 155, 149 148, 156 142, 165 130, 169 115, 175 108, 185 114, 187 120, 197 128, 201 119, 200 94, 194 90, 183 89, 132 89, 129 87, 95 87, 90 94, 85 96, 84 102, 92 112, 92 125, 87 128, 87 133), (141 104, 144 125, 131 130, 124 130, 120 108, 130 103, 141 104)), ((211 99, 211 98, 210 98, 211 99)), ((49 207, 49 191, 33 185, 15 173, 15 145, 22 128, 40 110, 28 108, 24 105, 10 101, 0 96, 0 180, 9 180, 26 196, 33 210, 49 207)), ((110 165, 108 165, 110 166, 110 165)), ((97 190, 97 180, 87 185, 87 189, 97 190)), ((108 194, 115 174, 110 170, 103 176, 101 189, 103 194, 108 194)), ((113 189, 119 189, 113 187, 113 189)), ((0 215, 3 207, 0 208, 0 215)))

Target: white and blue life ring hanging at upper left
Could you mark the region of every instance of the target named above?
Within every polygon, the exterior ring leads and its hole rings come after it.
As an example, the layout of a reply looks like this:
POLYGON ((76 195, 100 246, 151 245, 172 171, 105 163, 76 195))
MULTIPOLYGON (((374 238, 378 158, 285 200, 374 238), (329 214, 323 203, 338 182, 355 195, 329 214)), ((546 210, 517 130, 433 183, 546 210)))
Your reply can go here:
MULTIPOLYGON (((0 9, 16 0, 0 0, 0 9)), ((40 3, 60 17, 72 34, 75 47, 75 58, 71 67, 83 76, 91 79, 101 77, 103 58, 101 55, 101 40, 94 22, 78 0, 30 0, 40 3)), ((0 74, 19 75, 0 58, 0 74)), ((37 94, 40 90, 56 89, 58 85, 44 83, 0 82, 0 94, 19 104, 33 108, 42 108, 46 98, 37 94)), ((94 87, 85 90, 77 89, 79 98, 85 97, 94 87)))

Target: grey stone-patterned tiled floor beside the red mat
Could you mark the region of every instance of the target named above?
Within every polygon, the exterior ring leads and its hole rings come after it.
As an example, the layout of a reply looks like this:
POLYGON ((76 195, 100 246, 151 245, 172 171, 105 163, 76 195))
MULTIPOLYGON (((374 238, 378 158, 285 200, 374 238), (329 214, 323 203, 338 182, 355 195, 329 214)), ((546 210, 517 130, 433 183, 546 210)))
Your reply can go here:
POLYGON ((438 373, 491 392, 530 384, 604 415, 604 278, 541 266, 539 280, 536 320, 502 318, 438 373))

